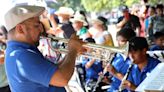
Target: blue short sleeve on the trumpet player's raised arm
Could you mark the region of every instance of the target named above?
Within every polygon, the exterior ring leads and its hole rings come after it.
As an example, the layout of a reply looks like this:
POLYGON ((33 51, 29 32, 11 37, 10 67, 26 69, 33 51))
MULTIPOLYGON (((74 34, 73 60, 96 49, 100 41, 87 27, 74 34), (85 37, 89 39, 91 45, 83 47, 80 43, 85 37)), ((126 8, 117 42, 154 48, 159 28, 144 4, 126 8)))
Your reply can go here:
POLYGON ((22 52, 16 63, 20 76, 47 87, 57 70, 57 65, 49 62, 40 54, 30 51, 22 52))

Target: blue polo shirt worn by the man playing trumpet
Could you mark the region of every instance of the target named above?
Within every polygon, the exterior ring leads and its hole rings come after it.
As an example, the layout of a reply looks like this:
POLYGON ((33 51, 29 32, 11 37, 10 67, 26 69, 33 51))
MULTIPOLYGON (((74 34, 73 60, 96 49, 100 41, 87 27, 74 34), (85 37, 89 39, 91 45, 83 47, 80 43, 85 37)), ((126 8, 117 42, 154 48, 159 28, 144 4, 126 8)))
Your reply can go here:
POLYGON ((5 67, 12 92, 65 92, 50 86, 57 66, 43 57, 37 47, 27 43, 7 43, 5 67))

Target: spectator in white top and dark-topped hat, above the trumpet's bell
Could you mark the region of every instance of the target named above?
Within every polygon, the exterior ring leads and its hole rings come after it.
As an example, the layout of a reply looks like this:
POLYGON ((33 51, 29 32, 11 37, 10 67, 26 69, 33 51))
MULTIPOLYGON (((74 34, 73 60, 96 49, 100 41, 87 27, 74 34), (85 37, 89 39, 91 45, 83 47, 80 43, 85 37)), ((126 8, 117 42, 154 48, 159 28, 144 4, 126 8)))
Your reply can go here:
POLYGON ((113 39, 108 32, 108 20, 103 16, 98 16, 92 21, 92 27, 88 30, 91 37, 95 40, 96 44, 113 46, 113 39))

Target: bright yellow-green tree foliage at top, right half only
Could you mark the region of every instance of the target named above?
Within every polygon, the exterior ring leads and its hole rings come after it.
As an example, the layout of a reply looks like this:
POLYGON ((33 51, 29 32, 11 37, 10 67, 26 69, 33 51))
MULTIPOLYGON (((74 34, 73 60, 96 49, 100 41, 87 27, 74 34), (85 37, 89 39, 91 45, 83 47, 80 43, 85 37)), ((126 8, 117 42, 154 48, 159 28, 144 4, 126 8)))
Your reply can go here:
MULTIPOLYGON (((140 1, 141 0, 81 0, 81 4, 88 12, 98 12, 111 10, 123 4, 131 7, 133 4, 140 3, 140 1)), ((164 0, 148 0, 148 2, 155 5, 159 2, 164 3, 164 0)))

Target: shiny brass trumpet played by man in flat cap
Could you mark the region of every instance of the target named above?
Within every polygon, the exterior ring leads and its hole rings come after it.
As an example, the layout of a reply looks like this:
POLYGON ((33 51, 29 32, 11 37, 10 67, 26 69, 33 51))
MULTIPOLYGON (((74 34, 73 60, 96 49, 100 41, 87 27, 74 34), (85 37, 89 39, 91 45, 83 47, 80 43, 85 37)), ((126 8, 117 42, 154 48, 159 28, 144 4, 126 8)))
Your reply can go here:
MULTIPOLYGON (((47 39, 50 42, 50 48, 54 51, 60 53, 67 53, 67 44, 69 39, 64 39, 60 37, 41 37, 41 39, 47 39)), ((80 54, 80 56, 85 56, 93 59, 98 59, 101 61, 108 61, 113 53, 124 54, 125 57, 128 55, 129 44, 127 43, 123 47, 112 47, 112 46, 103 46, 93 43, 86 43, 83 45, 84 48, 89 48, 85 53, 80 54)))

